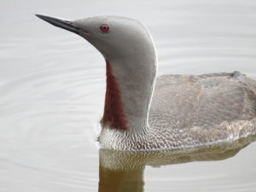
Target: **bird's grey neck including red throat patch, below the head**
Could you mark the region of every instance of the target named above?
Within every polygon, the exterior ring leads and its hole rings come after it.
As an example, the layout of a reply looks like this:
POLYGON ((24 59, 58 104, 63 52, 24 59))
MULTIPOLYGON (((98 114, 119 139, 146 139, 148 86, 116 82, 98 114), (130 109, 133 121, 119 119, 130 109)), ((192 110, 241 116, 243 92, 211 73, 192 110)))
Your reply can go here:
POLYGON ((103 128, 146 131, 156 73, 154 58, 144 62, 135 60, 133 63, 113 60, 107 61, 106 65, 103 128))

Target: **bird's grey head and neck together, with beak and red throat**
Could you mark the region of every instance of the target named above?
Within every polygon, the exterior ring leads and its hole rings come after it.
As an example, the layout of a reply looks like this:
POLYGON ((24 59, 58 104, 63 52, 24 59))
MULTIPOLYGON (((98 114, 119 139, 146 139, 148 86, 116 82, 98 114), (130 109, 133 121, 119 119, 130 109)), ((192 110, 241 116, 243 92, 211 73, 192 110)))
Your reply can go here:
POLYGON ((85 38, 110 64, 111 74, 107 66, 103 126, 115 131, 145 131, 157 64, 154 42, 146 27, 137 20, 119 16, 96 16, 82 20, 37 16, 85 38), (114 90, 117 86, 114 86, 110 76, 118 84, 119 99, 114 90))

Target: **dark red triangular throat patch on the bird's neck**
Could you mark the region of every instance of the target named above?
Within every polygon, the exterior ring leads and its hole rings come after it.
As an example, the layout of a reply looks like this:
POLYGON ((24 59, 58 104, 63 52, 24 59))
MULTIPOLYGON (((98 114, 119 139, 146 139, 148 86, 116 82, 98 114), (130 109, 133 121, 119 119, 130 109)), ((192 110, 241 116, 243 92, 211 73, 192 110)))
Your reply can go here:
POLYGON ((117 130, 127 130, 127 121, 121 101, 119 84, 112 73, 111 64, 107 64, 107 89, 105 96, 105 108, 102 118, 103 125, 117 130))

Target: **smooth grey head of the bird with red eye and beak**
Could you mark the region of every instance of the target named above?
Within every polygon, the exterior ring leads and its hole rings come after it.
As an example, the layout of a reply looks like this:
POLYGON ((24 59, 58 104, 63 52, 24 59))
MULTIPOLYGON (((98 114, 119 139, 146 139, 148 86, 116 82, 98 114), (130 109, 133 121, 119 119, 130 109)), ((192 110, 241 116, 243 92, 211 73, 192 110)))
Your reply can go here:
POLYGON ((79 34, 98 49, 106 60, 143 54, 154 46, 148 30, 137 20, 119 16, 96 16, 65 20, 37 15, 42 20, 79 34), (141 52, 141 53, 140 53, 141 52))

